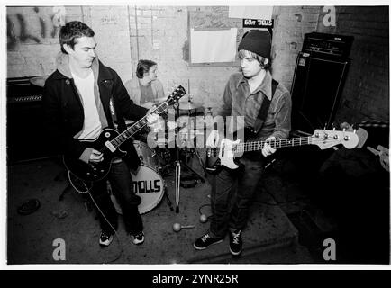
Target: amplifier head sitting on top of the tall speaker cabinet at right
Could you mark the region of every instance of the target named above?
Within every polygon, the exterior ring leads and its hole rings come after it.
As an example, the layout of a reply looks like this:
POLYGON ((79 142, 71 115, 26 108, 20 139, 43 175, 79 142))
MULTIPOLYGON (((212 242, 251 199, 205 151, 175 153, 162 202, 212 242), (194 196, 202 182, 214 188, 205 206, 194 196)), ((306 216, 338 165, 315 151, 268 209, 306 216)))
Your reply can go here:
POLYGON ((323 58, 348 58, 353 36, 311 32, 305 34, 302 52, 323 58))

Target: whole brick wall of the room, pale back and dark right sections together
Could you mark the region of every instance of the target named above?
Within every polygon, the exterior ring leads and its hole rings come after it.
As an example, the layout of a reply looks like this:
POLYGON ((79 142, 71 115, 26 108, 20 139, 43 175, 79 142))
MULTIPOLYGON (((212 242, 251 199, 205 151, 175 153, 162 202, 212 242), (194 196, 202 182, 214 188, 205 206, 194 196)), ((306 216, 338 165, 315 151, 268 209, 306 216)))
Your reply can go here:
MULTIPOLYGON (((221 102, 224 85, 237 67, 189 66, 189 9, 195 7, 66 6, 64 20, 81 20, 94 29, 99 57, 124 82, 132 78, 138 59, 148 58, 158 63, 166 94, 181 84, 197 101, 214 106, 221 102)), ((332 27, 323 25, 325 14, 323 6, 274 7, 273 76, 290 89, 305 33, 353 35, 352 63, 337 118, 352 122, 388 120, 387 7, 337 6, 336 25, 332 27)), ((54 57, 59 51, 56 15, 59 7, 7 8, 9 77, 48 75, 54 70, 54 57)))

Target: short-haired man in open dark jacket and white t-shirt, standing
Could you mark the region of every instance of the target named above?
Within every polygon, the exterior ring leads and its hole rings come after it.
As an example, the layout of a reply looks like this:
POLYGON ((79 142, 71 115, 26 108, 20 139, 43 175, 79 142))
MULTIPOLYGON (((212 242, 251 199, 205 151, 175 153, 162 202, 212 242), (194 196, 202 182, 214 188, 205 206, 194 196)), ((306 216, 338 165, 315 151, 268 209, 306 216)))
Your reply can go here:
MULTIPOLYGON (((101 132, 110 134, 104 129, 114 129, 114 121, 118 130, 123 131, 126 130, 125 118, 138 121, 147 117, 152 123, 159 117, 154 113, 146 116, 147 109, 132 103, 117 73, 96 57, 94 35, 85 23, 77 21, 61 27, 57 70, 47 79, 42 97, 50 137, 60 140, 64 159, 74 159, 75 163, 86 167, 105 161, 104 149, 94 148, 92 140, 100 137, 101 132)), ((123 220, 132 243, 138 245, 144 241, 137 207, 141 199, 132 191, 129 172, 129 167, 139 166, 140 159, 132 142, 126 144, 131 144, 122 147, 128 150, 126 162, 114 159, 108 165, 107 175, 89 182, 91 187, 88 189, 102 229, 99 237, 102 247, 110 245, 118 225, 114 204, 107 193, 107 180, 119 193, 123 220)))

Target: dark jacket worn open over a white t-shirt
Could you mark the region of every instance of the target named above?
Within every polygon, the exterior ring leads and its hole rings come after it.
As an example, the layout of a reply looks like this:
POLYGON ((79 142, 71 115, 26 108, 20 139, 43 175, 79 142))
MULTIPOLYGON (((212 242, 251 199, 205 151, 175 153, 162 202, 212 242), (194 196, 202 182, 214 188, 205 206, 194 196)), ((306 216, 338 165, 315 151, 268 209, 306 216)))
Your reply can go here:
MULTIPOLYGON (((114 119, 110 109, 111 99, 113 99, 119 131, 126 129, 125 119, 138 121, 146 114, 147 109, 132 102, 121 78, 113 69, 105 67, 95 58, 92 70, 95 76, 95 99, 100 99, 102 107, 100 118, 105 120, 102 121, 103 123, 107 122, 109 128, 114 129, 114 119)), ((84 111, 77 87, 70 74, 68 55, 59 53, 57 70, 45 82, 42 103, 50 135, 48 137, 59 140, 64 154, 79 158, 88 145, 87 142, 77 139, 77 135, 83 129, 84 111)), ((127 162, 132 168, 140 165, 132 140, 126 141, 122 149, 129 152, 127 162)))

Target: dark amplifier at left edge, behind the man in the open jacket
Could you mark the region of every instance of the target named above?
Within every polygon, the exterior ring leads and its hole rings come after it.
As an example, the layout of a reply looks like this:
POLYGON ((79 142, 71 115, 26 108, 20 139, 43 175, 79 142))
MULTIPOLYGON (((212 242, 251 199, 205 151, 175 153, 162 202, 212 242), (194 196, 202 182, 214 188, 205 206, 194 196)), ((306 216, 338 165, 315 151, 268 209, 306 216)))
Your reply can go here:
POLYGON ((7 160, 11 164, 59 155, 57 139, 45 130, 43 87, 33 85, 32 78, 8 78, 6 83, 7 160))

